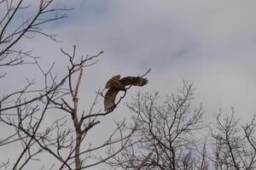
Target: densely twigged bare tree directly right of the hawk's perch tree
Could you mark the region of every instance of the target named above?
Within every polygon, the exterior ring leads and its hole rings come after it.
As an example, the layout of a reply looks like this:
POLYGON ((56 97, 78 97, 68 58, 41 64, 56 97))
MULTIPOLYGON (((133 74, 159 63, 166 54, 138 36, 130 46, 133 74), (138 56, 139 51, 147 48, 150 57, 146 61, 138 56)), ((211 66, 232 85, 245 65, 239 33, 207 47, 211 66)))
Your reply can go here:
POLYGON ((128 107, 137 116, 137 131, 132 141, 137 141, 108 164, 113 169, 134 169, 152 152, 143 169, 205 169, 206 159, 197 149, 198 133, 206 124, 202 120, 202 106, 193 108, 192 84, 184 82, 178 94, 167 96, 159 104, 159 94, 138 93, 128 107), (200 156, 199 156, 200 155, 200 156))

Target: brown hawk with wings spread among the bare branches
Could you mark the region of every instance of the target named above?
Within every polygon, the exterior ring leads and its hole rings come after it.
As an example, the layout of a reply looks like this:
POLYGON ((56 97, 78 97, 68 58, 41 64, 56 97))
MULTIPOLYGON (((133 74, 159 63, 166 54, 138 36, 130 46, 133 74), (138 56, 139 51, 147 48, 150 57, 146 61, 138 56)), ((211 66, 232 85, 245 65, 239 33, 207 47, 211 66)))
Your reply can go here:
POLYGON ((125 86, 144 86, 148 83, 146 78, 142 77, 124 77, 114 76, 108 80, 105 88, 108 88, 104 97, 105 111, 112 111, 115 107, 114 100, 119 91, 126 91, 125 86))

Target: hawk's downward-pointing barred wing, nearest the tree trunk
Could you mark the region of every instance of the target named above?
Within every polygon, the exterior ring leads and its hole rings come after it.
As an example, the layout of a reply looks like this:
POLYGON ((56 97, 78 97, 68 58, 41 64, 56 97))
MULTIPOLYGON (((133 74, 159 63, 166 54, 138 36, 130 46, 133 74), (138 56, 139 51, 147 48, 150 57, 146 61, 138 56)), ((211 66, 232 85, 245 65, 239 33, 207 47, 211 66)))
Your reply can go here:
POLYGON ((109 88, 104 97, 104 109, 105 111, 111 111, 114 109, 114 99, 119 93, 118 88, 109 88))

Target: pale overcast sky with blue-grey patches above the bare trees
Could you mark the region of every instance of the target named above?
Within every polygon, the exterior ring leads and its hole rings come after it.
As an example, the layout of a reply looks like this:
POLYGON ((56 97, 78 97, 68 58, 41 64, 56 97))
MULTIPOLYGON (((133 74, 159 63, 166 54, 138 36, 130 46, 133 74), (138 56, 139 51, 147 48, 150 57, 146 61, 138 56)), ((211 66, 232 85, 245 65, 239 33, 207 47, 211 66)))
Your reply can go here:
MULTIPOLYGON (((175 93, 185 80, 195 84, 195 104, 202 102, 207 121, 220 108, 230 114, 234 107, 243 121, 256 113, 256 1, 56 0, 55 7, 75 8, 67 12, 67 19, 44 26, 63 42, 36 36, 24 40, 22 48, 41 57, 44 68, 56 61, 59 75, 67 71, 60 48, 71 52, 77 45, 80 55, 105 51, 98 64, 84 71, 80 103, 85 111, 109 77, 142 75, 151 68, 148 85, 131 89, 126 101, 137 90, 175 93)), ((34 69, 30 66, 19 74, 37 77, 34 69)), ((100 132, 113 118, 130 116, 121 105, 102 119, 96 127, 100 132)))

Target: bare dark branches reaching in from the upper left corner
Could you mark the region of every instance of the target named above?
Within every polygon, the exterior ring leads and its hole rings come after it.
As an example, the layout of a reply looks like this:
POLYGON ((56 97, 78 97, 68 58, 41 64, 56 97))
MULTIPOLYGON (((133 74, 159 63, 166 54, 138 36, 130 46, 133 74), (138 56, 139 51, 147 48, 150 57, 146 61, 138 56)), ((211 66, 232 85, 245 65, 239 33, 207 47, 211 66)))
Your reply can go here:
MULTIPOLYGON (((51 8, 53 2, 54 0, 41 0, 32 5, 26 0, 0 1, 1 67, 31 63, 36 58, 30 51, 15 47, 22 38, 32 39, 33 34, 37 33, 57 41, 56 35, 45 33, 40 26, 66 18, 67 15, 63 12, 71 8, 51 8)), ((4 75, 5 73, 2 77, 4 75)))

